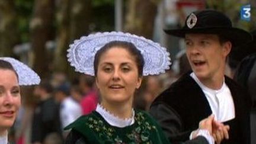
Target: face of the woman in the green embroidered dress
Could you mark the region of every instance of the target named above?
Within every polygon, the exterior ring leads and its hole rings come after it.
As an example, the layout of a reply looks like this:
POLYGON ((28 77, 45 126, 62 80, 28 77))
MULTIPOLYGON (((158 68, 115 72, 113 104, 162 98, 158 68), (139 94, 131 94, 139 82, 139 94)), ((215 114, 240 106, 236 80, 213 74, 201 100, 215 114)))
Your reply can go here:
POLYGON ((135 57, 127 50, 111 47, 100 57, 96 84, 102 103, 132 103, 141 82, 135 57))

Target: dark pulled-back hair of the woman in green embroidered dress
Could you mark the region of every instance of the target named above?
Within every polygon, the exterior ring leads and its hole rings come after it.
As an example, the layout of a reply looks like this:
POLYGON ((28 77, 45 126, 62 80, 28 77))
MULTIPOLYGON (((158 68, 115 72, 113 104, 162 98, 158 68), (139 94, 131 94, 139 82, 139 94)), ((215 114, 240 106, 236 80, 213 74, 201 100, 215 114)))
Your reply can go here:
POLYGON ((113 48, 113 47, 121 47, 122 49, 127 50, 132 56, 135 57, 135 62, 137 65, 137 69, 139 72, 139 76, 142 76, 143 74, 143 66, 144 66, 144 59, 142 54, 140 53, 140 50, 137 49, 137 47, 133 43, 129 43, 127 41, 111 41, 110 43, 105 44, 98 52, 96 53, 94 57, 94 75, 97 76, 98 72, 98 64, 100 62, 101 56, 107 52, 107 50, 113 48))

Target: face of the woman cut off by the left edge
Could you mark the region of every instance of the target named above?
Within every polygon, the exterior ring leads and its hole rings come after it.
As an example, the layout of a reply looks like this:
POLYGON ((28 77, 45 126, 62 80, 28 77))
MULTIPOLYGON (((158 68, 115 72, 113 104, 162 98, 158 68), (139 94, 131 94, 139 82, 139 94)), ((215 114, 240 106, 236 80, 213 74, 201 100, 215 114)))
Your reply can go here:
POLYGON ((21 105, 20 86, 15 73, 0 69, 0 131, 14 123, 21 105))

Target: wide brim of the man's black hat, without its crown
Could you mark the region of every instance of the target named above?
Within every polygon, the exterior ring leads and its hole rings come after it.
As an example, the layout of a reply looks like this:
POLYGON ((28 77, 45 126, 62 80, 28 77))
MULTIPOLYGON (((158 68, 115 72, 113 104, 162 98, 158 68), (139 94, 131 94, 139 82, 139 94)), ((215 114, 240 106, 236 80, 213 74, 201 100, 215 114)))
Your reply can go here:
POLYGON ((233 47, 241 46, 242 44, 252 41, 252 36, 245 30, 239 28, 191 28, 191 29, 176 29, 176 30, 164 30, 165 33, 172 36, 185 37, 185 34, 190 33, 202 33, 202 34, 222 34, 226 39, 229 39, 233 47))

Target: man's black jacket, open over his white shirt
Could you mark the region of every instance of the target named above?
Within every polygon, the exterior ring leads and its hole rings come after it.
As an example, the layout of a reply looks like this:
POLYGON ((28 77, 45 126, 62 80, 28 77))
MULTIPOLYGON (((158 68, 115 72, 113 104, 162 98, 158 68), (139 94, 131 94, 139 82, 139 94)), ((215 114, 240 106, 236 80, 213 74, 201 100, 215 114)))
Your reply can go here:
MULTIPOLYGON (((232 79, 225 76, 225 82, 231 90, 235 104, 235 119, 226 121, 225 124, 231 127, 230 138, 222 143, 249 144, 251 101, 247 92, 232 79)), ((153 101, 150 113, 159 122, 169 140, 180 143, 189 139, 190 133, 198 128, 200 120, 212 114, 212 110, 199 85, 187 73, 153 101)))

